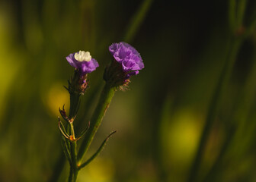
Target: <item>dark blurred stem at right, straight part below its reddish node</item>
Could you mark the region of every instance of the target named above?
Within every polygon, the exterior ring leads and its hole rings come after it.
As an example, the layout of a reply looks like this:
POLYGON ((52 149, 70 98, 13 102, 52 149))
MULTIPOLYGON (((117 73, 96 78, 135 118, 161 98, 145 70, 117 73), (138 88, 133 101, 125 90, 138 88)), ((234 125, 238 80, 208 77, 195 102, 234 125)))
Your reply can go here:
POLYGON ((229 81, 230 74, 232 72, 233 64, 235 63, 235 58, 238 54, 238 49, 241 45, 241 39, 237 37, 232 37, 230 41, 230 47, 229 52, 226 57, 226 62, 224 67, 222 68, 222 72, 220 74, 216 89, 214 91, 213 97, 210 101, 210 108, 208 110, 208 114, 206 117, 206 123, 203 128, 203 133, 200 138, 200 143, 197 148, 197 153, 194 158, 194 162, 192 163, 192 166, 190 168, 190 174, 187 181, 195 181, 198 176, 198 172, 200 169, 200 165, 203 158, 203 153, 206 148, 206 142, 209 139, 210 136, 210 129, 213 126, 213 123, 216 118, 216 113, 219 108, 219 101, 221 100, 222 92, 224 90, 224 87, 229 81))

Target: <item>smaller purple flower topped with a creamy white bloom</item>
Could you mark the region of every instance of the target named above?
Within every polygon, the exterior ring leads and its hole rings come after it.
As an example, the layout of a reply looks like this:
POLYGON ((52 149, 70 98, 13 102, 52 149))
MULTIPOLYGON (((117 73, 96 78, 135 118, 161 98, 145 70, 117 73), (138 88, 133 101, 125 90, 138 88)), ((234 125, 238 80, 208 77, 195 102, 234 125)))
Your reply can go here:
POLYGON ((82 76, 91 73, 99 66, 98 62, 91 58, 90 52, 75 52, 67 56, 66 60, 72 67, 78 69, 82 76))

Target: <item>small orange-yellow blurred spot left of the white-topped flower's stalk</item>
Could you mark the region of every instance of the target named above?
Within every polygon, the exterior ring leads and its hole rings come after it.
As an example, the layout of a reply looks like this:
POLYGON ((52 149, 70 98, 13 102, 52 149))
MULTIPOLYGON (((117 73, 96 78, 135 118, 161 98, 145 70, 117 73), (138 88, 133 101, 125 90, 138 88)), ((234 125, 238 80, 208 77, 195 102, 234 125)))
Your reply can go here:
POLYGON ((69 111, 69 92, 63 85, 63 83, 54 83, 46 96, 43 96, 43 101, 51 115, 59 116, 59 108, 62 108, 64 104, 66 111, 69 111))

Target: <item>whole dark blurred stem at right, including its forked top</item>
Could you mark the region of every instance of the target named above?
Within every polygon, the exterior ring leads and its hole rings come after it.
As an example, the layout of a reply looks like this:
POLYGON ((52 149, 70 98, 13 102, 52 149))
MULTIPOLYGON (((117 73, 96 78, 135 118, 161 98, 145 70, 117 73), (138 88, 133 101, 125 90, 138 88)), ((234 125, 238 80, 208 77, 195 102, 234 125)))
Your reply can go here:
POLYGON ((228 83, 229 81, 232 67, 238 54, 238 49, 240 48, 243 39, 245 39, 245 36, 239 35, 239 32, 237 31, 242 28, 246 2, 246 0, 241 0, 238 5, 236 5, 235 0, 229 0, 229 26, 231 28, 231 33, 238 33, 238 36, 231 37, 229 43, 229 52, 226 57, 226 63, 222 69, 222 73, 219 77, 215 92, 210 102, 210 108, 206 117, 206 123, 203 128, 203 133, 200 138, 199 146, 197 148, 197 154, 195 155, 194 162, 192 163, 192 166, 190 168, 188 181, 195 181, 197 179, 198 171, 203 158, 203 153, 206 148, 206 142, 210 136, 210 129, 213 126, 216 118, 222 92, 224 90, 224 87, 226 86, 226 83, 228 83))

